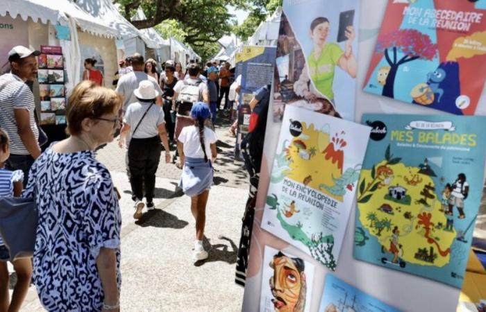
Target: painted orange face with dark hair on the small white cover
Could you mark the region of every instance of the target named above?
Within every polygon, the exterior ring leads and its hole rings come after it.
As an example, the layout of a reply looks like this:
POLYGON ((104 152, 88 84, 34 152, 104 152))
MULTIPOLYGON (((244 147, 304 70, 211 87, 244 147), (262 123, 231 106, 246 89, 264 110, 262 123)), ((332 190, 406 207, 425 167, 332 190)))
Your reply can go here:
POLYGON ((274 269, 269 284, 275 311, 303 312, 307 292, 304 261, 278 252, 269 266, 274 269))

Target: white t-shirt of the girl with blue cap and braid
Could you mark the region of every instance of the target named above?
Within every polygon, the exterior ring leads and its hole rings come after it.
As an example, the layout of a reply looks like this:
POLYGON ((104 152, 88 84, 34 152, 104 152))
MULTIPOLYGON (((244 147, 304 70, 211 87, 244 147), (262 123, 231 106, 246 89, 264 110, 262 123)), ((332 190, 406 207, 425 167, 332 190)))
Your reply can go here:
MULTIPOLYGON (((178 140, 184 144, 185 157, 204 158, 204 152, 199 141, 199 128, 195 125, 184 127, 178 140)), ((211 159, 210 144, 216 143, 216 133, 208 127, 204 127, 204 146, 208 159, 211 159)))

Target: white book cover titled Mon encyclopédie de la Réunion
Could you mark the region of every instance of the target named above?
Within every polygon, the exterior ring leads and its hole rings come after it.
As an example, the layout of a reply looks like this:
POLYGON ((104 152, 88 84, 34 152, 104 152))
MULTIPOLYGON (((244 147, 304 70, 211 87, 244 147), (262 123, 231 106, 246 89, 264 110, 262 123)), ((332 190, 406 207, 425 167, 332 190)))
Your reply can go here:
POLYGON ((335 270, 370 130, 287 107, 262 228, 335 270))

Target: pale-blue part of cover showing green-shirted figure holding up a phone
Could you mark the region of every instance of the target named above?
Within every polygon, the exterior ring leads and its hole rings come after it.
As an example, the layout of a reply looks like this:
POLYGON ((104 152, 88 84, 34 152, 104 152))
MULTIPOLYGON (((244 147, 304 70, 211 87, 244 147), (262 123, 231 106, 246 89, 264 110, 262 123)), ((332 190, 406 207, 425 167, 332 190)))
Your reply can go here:
POLYGON ((293 92, 309 103, 324 98, 354 120, 359 1, 284 1, 283 12, 305 55, 293 92))

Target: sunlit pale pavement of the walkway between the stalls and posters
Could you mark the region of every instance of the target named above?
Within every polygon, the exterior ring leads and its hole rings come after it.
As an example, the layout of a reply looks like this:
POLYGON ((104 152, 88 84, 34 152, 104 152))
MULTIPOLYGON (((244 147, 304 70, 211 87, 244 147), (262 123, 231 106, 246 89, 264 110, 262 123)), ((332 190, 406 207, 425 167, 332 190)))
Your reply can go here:
MULTIPOLYGON (((160 163, 156 209, 135 222, 124 150, 113 141, 98 151, 97 158, 121 193, 121 311, 241 311, 244 290, 234 278, 248 177, 242 162, 233 160, 235 138, 228 127, 229 122, 216 127, 219 159, 203 241, 209 258, 198 263, 192 261, 195 222, 190 198, 174 193, 181 171, 160 163)), ((34 286, 21 311, 44 311, 34 286)))

